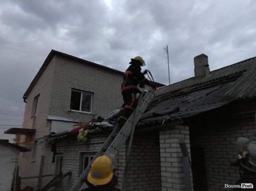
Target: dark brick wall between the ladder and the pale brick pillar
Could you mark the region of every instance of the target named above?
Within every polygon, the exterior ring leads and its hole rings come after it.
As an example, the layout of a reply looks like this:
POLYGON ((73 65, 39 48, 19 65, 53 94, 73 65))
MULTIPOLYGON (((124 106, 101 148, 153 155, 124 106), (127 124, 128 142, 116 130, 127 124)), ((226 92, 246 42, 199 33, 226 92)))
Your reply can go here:
MULTIPOLYGON (((129 140, 119 152, 118 178, 121 186, 129 140)), ((158 131, 135 134, 126 171, 126 191, 161 191, 158 131)))

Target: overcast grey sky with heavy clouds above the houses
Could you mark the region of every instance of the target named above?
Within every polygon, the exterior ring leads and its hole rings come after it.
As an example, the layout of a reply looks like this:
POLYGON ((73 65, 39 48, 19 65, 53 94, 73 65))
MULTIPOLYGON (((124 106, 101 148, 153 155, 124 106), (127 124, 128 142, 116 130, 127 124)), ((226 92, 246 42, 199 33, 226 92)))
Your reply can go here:
POLYGON ((0 1, 0 139, 21 127, 22 96, 52 49, 125 71, 142 56, 154 80, 194 75, 193 58, 210 70, 256 56, 255 0, 0 1))

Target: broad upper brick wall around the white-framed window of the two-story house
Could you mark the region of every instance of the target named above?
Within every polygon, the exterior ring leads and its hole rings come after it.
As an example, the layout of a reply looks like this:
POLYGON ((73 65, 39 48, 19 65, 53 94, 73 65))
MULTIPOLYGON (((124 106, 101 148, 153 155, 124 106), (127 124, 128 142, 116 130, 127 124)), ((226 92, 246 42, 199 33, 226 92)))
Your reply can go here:
POLYGON ((122 74, 57 56, 48 115, 87 122, 93 115, 104 117, 122 104, 122 78, 122 74), (69 111, 72 88, 93 93, 92 114, 69 111))

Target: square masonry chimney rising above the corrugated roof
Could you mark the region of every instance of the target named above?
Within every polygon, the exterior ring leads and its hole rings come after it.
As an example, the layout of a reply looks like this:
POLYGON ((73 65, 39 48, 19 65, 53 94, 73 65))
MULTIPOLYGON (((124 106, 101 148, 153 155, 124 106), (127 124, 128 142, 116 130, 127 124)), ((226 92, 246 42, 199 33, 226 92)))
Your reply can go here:
POLYGON ((210 74, 210 68, 208 64, 208 56, 205 54, 194 57, 195 65, 195 78, 203 78, 210 74))

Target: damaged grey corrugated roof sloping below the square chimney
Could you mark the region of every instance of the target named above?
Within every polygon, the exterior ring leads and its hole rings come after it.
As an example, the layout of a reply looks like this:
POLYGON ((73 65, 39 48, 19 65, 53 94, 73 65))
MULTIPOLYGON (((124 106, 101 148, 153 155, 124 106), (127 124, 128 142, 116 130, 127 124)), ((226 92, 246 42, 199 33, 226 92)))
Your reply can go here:
POLYGON ((211 71, 202 78, 161 87, 141 117, 139 125, 181 120, 256 97, 256 57, 211 71))

